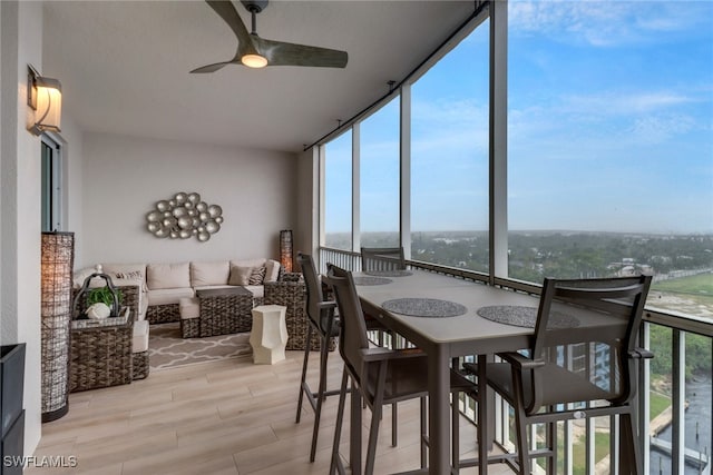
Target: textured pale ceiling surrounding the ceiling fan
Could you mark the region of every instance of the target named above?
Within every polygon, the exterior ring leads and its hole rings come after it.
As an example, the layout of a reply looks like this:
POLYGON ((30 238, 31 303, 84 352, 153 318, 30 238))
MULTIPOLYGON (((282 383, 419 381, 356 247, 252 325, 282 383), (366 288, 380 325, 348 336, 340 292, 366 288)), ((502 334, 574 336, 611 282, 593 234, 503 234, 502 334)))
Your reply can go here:
MULTIPOLYGON (((250 16, 234 2, 250 29, 250 16)), ((257 32, 345 50, 345 69, 228 65, 237 40, 202 1, 48 1, 42 73, 82 130, 301 151, 388 91, 471 1, 271 1, 257 32)))

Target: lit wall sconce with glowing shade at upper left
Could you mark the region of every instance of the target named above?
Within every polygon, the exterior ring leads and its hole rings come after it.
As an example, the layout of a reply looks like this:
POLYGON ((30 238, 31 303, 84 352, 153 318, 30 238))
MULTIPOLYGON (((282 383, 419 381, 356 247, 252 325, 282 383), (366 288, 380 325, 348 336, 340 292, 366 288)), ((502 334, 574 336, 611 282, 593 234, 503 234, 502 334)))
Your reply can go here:
POLYGON ((62 86, 57 79, 45 78, 28 65, 27 105, 35 110, 35 125, 29 128, 36 136, 45 130, 59 132, 62 115, 62 86))

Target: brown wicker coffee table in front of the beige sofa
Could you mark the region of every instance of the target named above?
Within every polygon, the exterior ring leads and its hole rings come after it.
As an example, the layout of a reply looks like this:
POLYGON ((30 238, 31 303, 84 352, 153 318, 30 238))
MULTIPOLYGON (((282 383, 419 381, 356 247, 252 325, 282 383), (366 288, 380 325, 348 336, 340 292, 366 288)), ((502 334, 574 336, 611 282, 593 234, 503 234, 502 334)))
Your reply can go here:
POLYGON ((253 327, 253 294, 244 287, 196 290, 199 336, 246 333, 253 327))

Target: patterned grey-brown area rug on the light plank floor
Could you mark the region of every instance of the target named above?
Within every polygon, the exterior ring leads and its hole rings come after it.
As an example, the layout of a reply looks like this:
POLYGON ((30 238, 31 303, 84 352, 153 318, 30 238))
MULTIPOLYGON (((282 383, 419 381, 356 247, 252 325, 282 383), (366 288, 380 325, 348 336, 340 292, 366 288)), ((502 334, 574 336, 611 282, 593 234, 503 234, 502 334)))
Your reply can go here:
POLYGON ((252 356, 250 333, 205 338, 182 338, 180 324, 152 325, 148 339, 150 369, 175 368, 198 363, 252 356))

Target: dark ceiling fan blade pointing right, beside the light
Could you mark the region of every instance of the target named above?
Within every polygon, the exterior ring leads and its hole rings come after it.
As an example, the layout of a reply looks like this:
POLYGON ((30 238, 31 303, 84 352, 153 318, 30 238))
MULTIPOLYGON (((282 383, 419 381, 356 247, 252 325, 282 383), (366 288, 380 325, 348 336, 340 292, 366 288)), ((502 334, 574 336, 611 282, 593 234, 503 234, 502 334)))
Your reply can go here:
POLYGON ((344 68, 349 60, 346 51, 273 41, 256 34, 251 34, 251 37, 257 51, 267 58, 267 66, 344 68))

